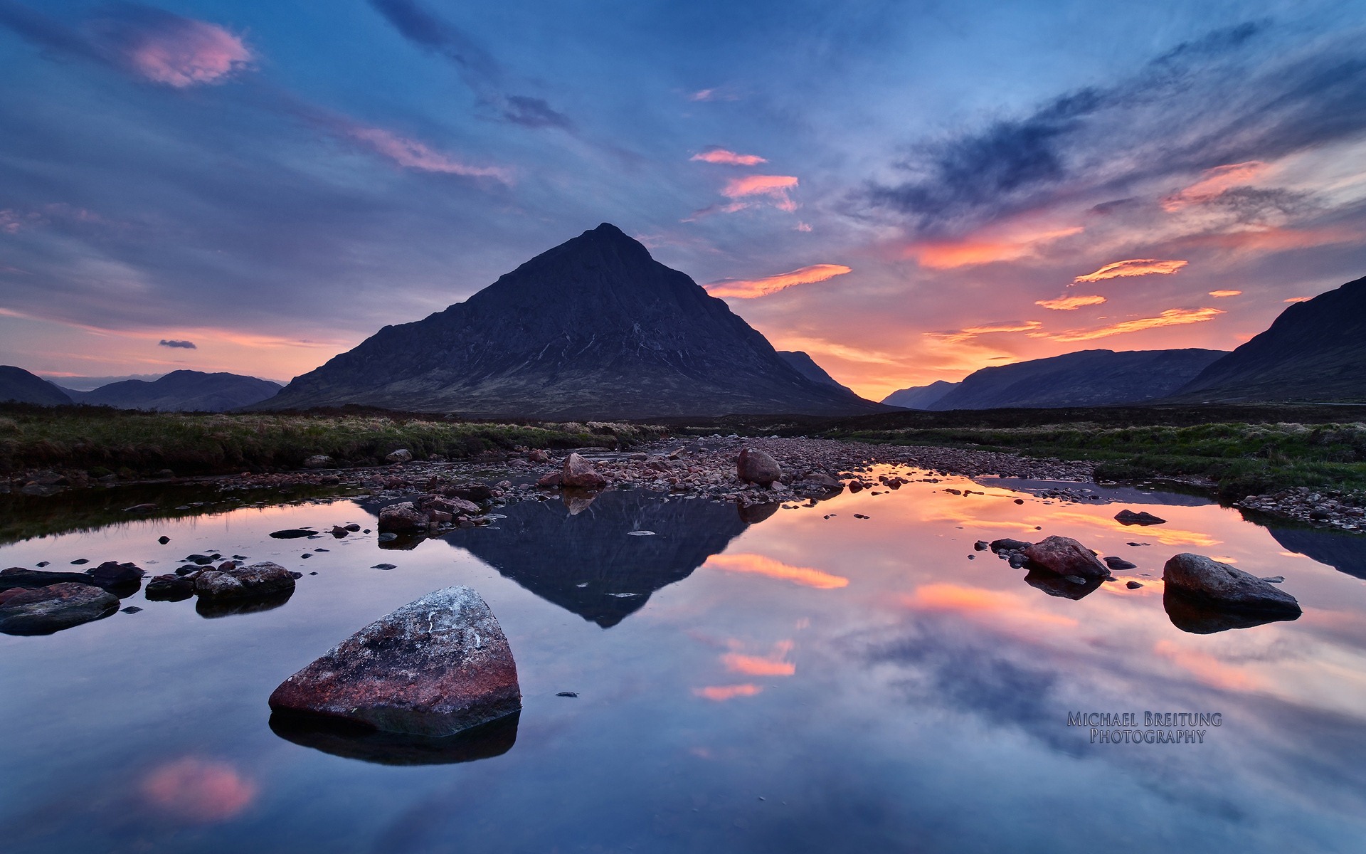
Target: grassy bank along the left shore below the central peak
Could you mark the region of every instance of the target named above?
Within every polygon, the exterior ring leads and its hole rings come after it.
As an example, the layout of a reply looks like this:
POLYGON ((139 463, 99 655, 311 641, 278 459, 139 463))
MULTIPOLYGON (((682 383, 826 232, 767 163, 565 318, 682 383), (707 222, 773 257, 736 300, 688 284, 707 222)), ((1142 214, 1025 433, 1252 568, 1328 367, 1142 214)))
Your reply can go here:
POLYGON ((0 404, 0 473, 79 469, 92 477, 296 469, 314 454, 370 466, 398 448, 417 459, 488 451, 627 447, 658 430, 624 424, 486 424, 398 413, 182 414, 0 404))

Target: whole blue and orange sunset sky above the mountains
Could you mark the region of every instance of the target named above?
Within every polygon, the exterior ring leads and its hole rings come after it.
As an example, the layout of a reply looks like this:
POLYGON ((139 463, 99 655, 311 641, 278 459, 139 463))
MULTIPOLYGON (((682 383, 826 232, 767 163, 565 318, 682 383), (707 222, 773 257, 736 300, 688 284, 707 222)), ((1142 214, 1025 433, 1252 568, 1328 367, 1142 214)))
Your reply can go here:
POLYGON ((0 0, 0 56, 59 381, 288 380, 602 221, 873 399, 1366 275, 1366 0, 0 0))

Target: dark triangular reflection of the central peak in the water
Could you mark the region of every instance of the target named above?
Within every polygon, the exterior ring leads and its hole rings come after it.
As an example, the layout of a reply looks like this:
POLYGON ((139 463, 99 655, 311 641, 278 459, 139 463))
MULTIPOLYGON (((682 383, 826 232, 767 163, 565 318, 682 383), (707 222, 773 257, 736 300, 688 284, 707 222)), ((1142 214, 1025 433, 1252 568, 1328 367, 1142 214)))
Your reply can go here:
POLYGON ((732 504, 663 501, 634 489, 600 493, 590 504, 578 511, 552 501, 514 504, 500 511, 507 515, 500 530, 459 529, 441 538, 541 598, 611 629, 751 523, 732 504), (642 529, 654 536, 627 536, 642 529))

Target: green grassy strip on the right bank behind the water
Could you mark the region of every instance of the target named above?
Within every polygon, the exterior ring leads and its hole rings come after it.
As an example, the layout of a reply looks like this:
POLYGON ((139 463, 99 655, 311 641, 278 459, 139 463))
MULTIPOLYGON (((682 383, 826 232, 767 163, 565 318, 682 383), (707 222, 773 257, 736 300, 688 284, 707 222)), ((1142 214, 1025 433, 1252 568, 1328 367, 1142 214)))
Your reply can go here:
POLYGON ((832 439, 978 447, 1086 459, 1102 480, 1202 478, 1220 496, 1291 486, 1366 489, 1366 424, 1202 424, 1197 426, 832 429, 832 439))

